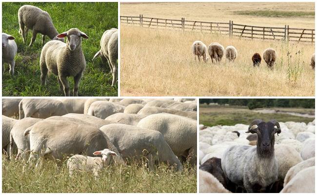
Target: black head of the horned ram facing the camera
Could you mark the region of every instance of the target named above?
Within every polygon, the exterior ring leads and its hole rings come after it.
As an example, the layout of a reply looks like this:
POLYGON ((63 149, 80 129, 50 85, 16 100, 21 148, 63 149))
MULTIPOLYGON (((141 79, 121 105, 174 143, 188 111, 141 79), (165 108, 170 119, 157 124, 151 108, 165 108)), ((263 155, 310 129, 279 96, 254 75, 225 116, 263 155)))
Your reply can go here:
MULTIPOLYGON (((274 149, 275 134, 277 136, 281 133, 281 128, 276 120, 270 120, 264 122, 260 119, 252 121, 248 131, 246 133, 252 133, 258 135, 258 152, 262 155, 271 154, 274 149)), ((273 153, 272 153, 273 154, 273 153)))

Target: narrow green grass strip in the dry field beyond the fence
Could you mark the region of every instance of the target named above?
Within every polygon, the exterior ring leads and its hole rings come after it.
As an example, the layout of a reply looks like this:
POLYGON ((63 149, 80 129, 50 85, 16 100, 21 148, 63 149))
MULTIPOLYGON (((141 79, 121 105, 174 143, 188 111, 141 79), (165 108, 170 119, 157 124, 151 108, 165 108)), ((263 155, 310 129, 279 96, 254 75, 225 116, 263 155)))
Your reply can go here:
POLYGON ((306 17, 315 16, 315 12, 296 12, 296 11, 273 11, 273 10, 258 10, 258 11, 235 11, 237 15, 262 16, 262 17, 306 17))

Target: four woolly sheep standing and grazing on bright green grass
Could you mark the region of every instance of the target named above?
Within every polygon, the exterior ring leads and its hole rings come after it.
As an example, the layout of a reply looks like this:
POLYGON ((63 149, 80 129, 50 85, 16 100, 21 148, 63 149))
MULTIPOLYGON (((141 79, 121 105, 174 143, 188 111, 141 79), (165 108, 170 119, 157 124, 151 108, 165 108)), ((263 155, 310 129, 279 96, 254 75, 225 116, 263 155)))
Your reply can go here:
MULTIPOLYGON (((41 84, 46 83, 47 72, 58 76, 60 91, 65 96, 70 96, 67 77, 74 77, 73 95, 78 96, 79 81, 86 68, 85 57, 81 48, 81 38, 88 36, 77 28, 71 28, 61 34, 56 30, 50 15, 38 7, 23 5, 18 11, 20 34, 23 42, 26 42, 28 30, 32 30, 32 38, 29 47, 32 46, 38 33, 42 34, 42 51, 40 54, 41 84), (51 41, 44 45, 45 36, 51 41), (64 38, 67 37, 66 43, 64 38)), ((15 38, 2 33, 2 74, 4 63, 10 65, 10 74, 14 75, 15 57, 18 51, 15 38)), ((107 60, 112 73, 112 86, 117 82, 118 75, 118 29, 106 30, 100 40, 100 51, 94 59, 100 56, 103 61, 107 60)))

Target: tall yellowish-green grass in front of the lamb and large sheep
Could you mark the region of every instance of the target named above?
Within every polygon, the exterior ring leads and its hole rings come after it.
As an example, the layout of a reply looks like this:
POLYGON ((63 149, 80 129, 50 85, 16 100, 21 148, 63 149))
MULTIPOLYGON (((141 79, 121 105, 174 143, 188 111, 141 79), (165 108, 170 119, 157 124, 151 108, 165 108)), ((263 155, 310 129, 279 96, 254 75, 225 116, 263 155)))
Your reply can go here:
POLYGON ((23 163, 2 157, 2 193, 196 193, 196 167, 184 165, 179 173, 164 164, 150 172, 145 165, 111 165, 98 181, 91 173, 79 172, 70 178, 66 161, 44 162, 41 169, 26 169, 23 163))

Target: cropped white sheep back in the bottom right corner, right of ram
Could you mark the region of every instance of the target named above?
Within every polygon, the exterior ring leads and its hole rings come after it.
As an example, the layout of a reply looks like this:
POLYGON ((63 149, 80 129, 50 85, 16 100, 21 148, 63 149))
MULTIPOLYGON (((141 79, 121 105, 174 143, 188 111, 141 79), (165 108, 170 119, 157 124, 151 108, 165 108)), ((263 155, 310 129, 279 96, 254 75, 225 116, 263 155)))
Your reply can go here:
POLYGON ((315 193, 315 166, 299 171, 280 193, 315 193))

